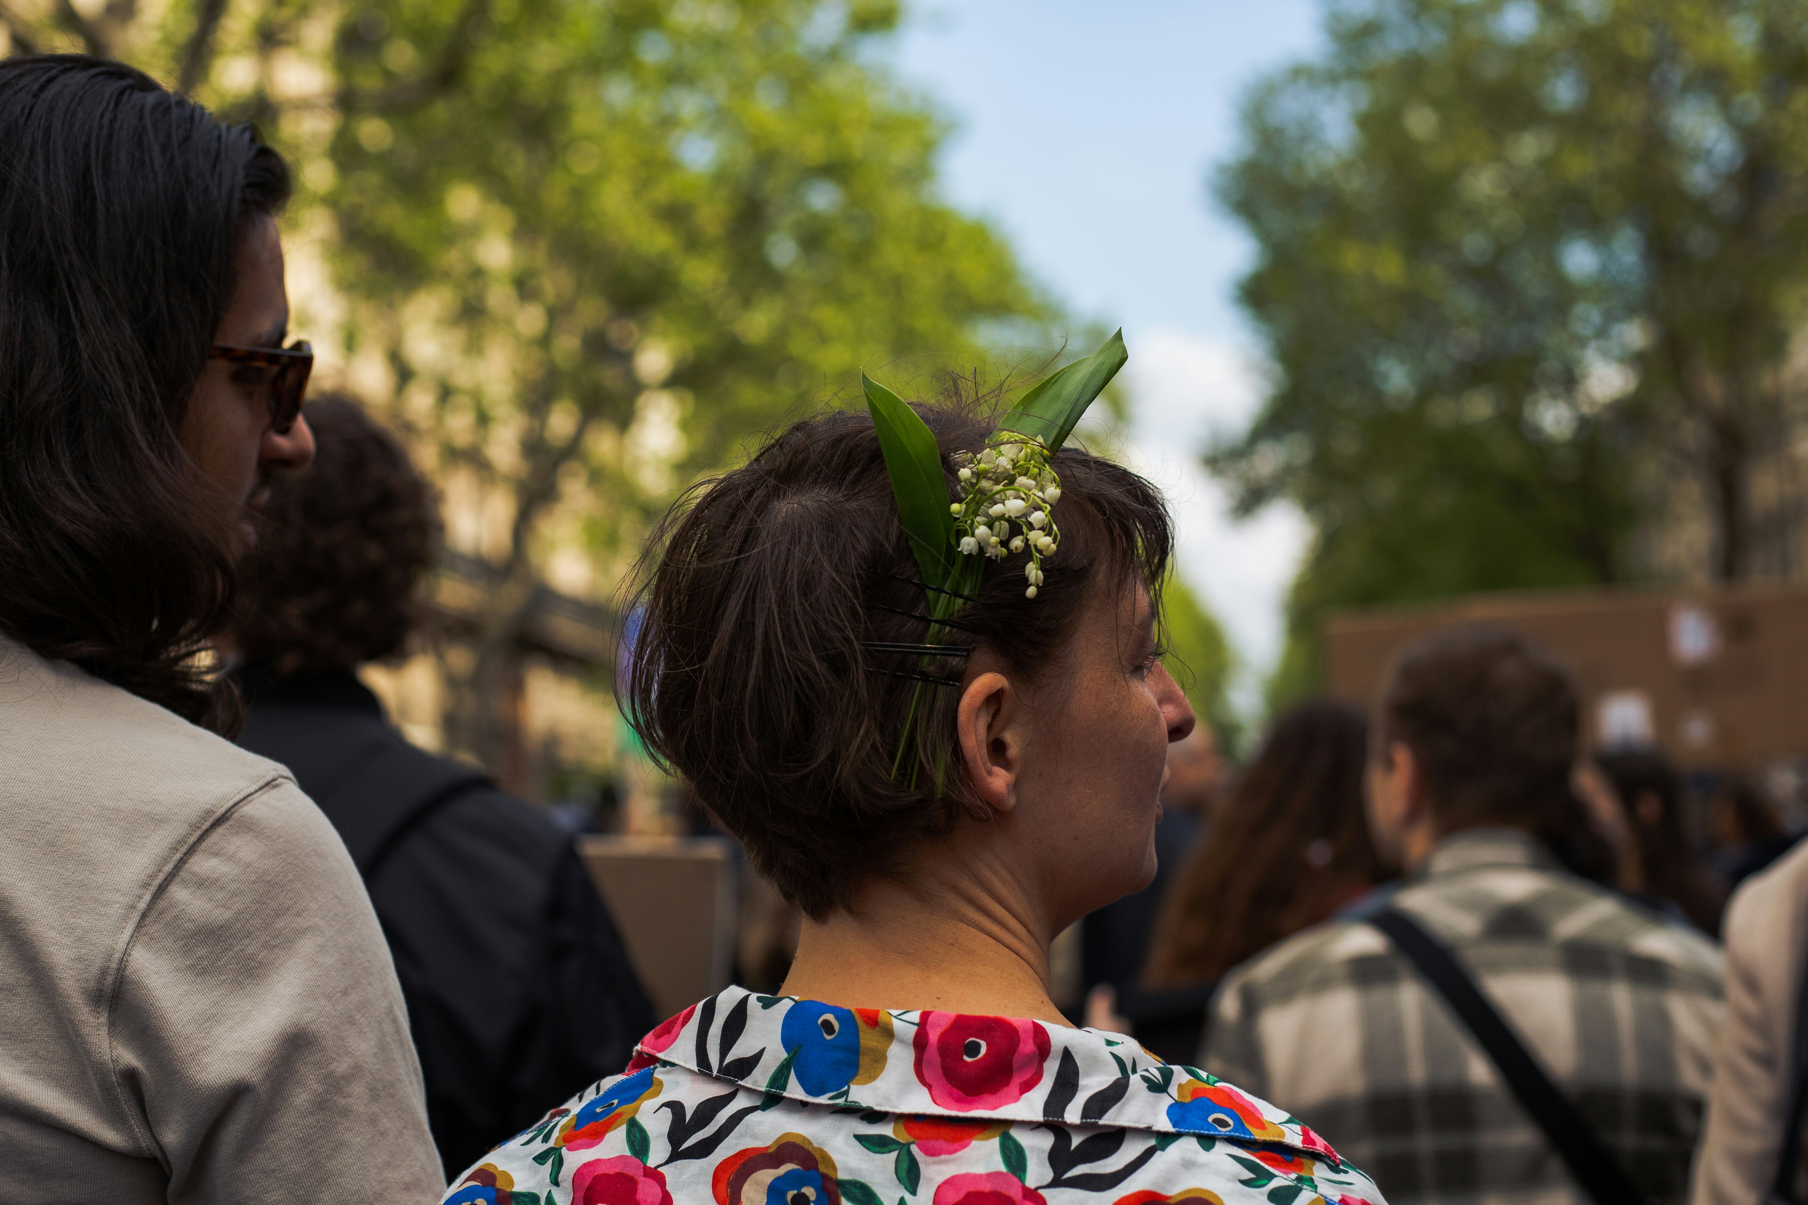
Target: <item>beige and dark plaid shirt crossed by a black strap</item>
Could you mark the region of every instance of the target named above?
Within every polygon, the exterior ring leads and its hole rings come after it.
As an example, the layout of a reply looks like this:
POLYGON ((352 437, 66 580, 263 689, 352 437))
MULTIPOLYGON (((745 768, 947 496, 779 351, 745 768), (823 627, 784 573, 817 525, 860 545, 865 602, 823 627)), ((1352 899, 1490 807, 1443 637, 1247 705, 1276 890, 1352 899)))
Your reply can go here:
MULTIPOLYGON (((1477 976, 1633 1180, 1681 1201, 1719 950, 1558 871, 1515 829, 1446 838, 1392 903, 1477 976)), ((1586 1201, 1443 997, 1361 920, 1233 970, 1201 1066, 1305 1118, 1394 1205, 1586 1201)))

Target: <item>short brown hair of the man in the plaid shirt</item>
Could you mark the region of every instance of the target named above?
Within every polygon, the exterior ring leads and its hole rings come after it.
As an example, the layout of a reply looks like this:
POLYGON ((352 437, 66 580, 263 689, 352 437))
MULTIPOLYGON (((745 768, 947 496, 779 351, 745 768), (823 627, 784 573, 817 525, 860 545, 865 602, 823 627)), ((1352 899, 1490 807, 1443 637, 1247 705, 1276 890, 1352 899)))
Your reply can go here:
POLYGON ((1515 632, 1475 623, 1399 652, 1381 692, 1380 737, 1412 750, 1446 833, 1542 831, 1553 806, 1573 804, 1578 721, 1562 665, 1515 632))

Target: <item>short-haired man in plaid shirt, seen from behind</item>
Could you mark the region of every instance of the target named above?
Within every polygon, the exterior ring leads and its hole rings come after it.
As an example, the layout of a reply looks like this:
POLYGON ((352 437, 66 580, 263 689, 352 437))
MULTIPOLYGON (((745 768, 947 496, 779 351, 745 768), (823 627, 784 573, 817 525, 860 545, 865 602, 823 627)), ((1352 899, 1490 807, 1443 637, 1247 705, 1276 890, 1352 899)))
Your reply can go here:
POLYGON ((1587 1198, 1443 997, 1363 923, 1385 905, 1454 952, 1649 1200, 1687 1196, 1721 959, 1551 855, 1582 822, 1577 735, 1568 674, 1510 632, 1403 650, 1369 820, 1405 883, 1244 963, 1213 997, 1201 1066, 1311 1116, 1394 1205, 1587 1198))

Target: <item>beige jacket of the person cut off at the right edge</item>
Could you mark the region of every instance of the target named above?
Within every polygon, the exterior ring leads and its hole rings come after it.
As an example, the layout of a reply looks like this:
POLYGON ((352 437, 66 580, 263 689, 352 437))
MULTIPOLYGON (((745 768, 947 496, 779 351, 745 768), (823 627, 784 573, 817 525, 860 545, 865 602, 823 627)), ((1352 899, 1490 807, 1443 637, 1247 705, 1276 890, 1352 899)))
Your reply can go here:
MULTIPOLYGON (((1694 1205, 1756 1205, 1777 1174, 1788 1111, 1790 1032, 1808 948, 1808 842, 1739 887, 1723 929, 1727 1023, 1696 1154, 1694 1205)), ((1808 1171, 1808 1147, 1803 1163, 1808 1171)), ((1808 1176, 1797 1183, 1808 1185, 1808 1176)))

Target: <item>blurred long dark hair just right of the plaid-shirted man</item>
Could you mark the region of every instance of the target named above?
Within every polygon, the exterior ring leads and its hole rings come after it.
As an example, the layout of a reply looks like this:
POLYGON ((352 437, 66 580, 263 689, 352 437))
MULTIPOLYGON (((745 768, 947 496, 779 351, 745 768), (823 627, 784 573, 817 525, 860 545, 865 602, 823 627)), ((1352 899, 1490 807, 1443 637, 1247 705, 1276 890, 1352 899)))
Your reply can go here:
POLYGON ((1694 853, 1683 815, 1683 780, 1654 750, 1595 753, 1633 842, 1620 874, 1634 900, 1719 936, 1727 889, 1694 853))

